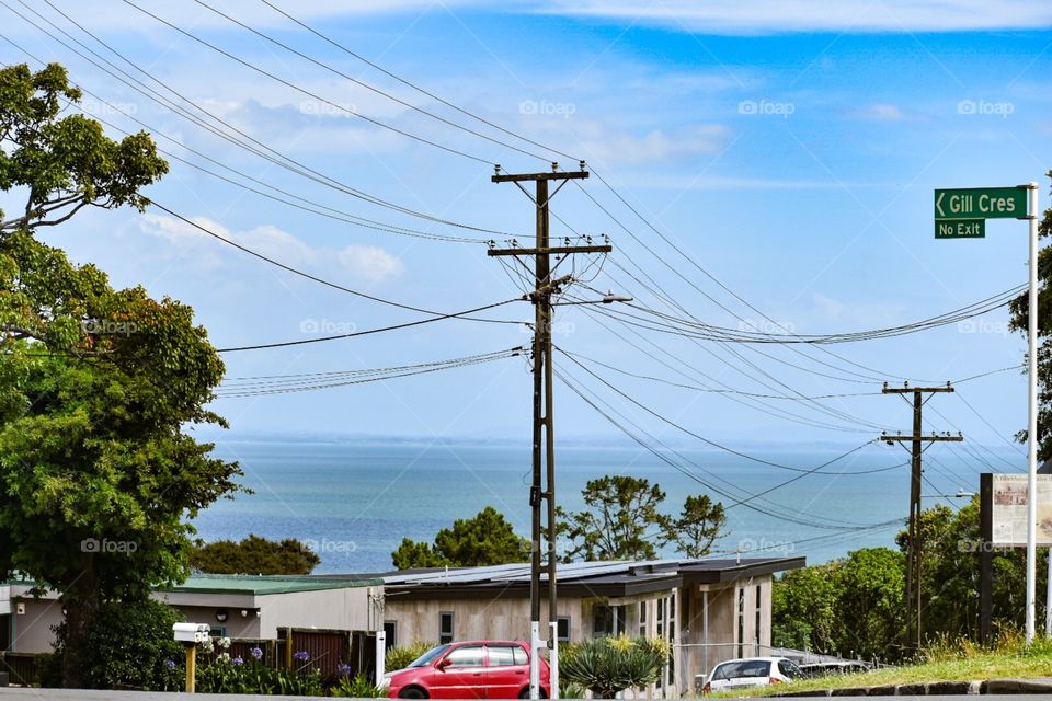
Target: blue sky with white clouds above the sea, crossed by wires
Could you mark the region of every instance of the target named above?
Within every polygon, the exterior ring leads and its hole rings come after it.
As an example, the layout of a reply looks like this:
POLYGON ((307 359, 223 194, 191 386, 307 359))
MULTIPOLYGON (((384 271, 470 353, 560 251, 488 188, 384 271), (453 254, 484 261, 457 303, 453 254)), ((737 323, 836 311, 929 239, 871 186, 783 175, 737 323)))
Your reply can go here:
MULTIPOLYGON (((528 245, 534 234, 533 203, 513 184, 492 183, 494 164, 523 173, 550 170, 551 161, 573 170, 584 160, 591 171, 552 200, 552 235, 607 235, 614 253, 561 263, 575 278, 561 301, 611 291, 678 319, 782 336, 910 324, 1026 283, 1026 223, 993 220, 985 239, 937 241, 934 189, 1038 182, 1041 206, 1049 203, 1047 2, 221 4, 309 59, 193 0, 139 7, 185 34, 121 0, 3 0, 0 56, 67 66, 88 91, 80 107, 114 137, 149 130, 171 172, 146 194, 167 210, 285 266, 413 308, 454 313, 519 300, 477 317, 533 318, 521 300, 524 268, 487 255, 488 240, 528 245), (180 104, 197 122, 118 80, 126 76, 70 36, 149 91, 192 101, 196 107, 180 104), (250 149, 203 124, 251 139, 250 149), (183 161, 281 188, 286 203, 441 238, 296 209, 183 161)), ((9 193, 0 207, 18 200, 9 193)), ((44 237, 75 261, 98 264, 118 287, 144 285, 191 304, 218 348, 428 318, 297 276, 159 208, 84 211, 44 237)), ((910 427, 910 407, 881 394, 883 381, 944 384, 1011 368, 1025 353, 1004 308, 922 333, 824 346, 697 341, 618 313, 654 320, 624 304, 557 308, 560 375, 607 402, 622 425, 691 446, 704 445, 701 436, 761 452, 850 448, 910 427)), ((523 323, 446 319, 226 352, 226 388, 237 378, 506 350, 527 345, 530 334, 523 323)), ((554 392, 560 439, 626 439, 564 381, 554 392)), ((1018 370, 961 382, 929 406, 926 429, 961 430, 976 446, 948 456, 976 469, 998 452, 1022 468, 1010 445, 1026 424, 1018 370)), ((517 356, 374 383, 227 397, 215 409, 244 435, 528 443, 531 381, 517 356)))

